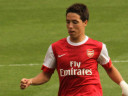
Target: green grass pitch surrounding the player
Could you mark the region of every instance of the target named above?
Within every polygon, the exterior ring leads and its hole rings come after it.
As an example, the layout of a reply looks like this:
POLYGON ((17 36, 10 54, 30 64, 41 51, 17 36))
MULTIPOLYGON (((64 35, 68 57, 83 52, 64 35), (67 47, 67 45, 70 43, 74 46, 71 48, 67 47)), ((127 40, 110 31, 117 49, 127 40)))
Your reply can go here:
MULTIPOLYGON (((128 61, 128 0, 0 0, 0 96, 57 96, 56 72, 48 83, 26 90, 20 80, 41 72, 49 45, 68 36, 65 10, 76 2, 89 8, 86 34, 107 45, 112 61, 128 61)), ((113 62, 128 82, 127 63, 113 62)), ((99 73, 104 96, 121 96, 101 66, 99 73)))

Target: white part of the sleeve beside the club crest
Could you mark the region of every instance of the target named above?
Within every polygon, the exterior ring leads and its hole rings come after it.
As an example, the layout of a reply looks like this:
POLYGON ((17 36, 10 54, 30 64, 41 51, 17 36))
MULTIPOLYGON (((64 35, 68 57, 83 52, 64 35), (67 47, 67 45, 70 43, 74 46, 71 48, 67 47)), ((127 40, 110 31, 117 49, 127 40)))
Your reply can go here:
POLYGON ((102 50, 101 50, 101 53, 100 53, 97 61, 101 65, 105 65, 105 64, 109 63, 109 61, 110 61, 110 57, 108 56, 108 51, 107 51, 105 44, 103 44, 103 46, 102 46, 102 50))

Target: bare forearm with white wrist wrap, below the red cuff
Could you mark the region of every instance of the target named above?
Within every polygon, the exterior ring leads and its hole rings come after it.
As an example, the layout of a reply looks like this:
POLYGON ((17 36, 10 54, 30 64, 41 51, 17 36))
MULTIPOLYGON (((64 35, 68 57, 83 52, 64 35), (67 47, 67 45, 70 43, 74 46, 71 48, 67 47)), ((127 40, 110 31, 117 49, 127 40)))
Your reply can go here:
POLYGON ((120 72, 113 65, 111 65, 109 69, 105 68, 105 70, 109 75, 109 77, 115 83, 119 84, 120 87, 122 88, 122 96, 128 96, 128 84, 123 80, 120 72))

